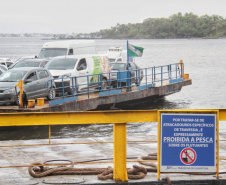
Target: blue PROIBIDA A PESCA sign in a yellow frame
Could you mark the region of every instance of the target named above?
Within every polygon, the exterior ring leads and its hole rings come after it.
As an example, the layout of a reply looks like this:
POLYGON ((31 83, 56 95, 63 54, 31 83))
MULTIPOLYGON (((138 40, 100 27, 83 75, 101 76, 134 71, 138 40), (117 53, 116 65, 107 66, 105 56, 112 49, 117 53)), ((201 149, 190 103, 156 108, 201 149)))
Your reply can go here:
POLYGON ((218 176, 217 111, 160 111, 158 128, 158 178, 161 172, 218 176))

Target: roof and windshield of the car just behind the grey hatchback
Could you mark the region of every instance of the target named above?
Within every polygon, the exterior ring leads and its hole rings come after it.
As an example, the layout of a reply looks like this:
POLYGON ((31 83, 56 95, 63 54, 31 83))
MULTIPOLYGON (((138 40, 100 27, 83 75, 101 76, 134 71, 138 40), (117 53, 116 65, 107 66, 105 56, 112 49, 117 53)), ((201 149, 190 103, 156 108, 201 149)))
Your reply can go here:
POLYGON ((11 65, 9 69, 19 67, 45 67, 48 62, 49 60, 47 59, 24 59, 11 65))

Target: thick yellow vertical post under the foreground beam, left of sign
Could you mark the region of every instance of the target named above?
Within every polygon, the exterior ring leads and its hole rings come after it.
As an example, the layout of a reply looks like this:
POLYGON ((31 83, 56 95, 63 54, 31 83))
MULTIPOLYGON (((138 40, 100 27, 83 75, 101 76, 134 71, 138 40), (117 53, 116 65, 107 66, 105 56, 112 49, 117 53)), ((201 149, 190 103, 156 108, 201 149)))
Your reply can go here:
POLYGON ((114 123, 114 179, 128 181, 126 170, 126 123, 114 123))

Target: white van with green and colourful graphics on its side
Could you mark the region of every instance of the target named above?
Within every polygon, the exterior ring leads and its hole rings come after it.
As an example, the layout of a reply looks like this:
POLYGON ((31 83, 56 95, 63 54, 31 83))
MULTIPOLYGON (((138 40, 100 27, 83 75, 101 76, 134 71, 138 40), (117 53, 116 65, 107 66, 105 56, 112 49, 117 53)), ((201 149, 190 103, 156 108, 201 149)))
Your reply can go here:
POLYGON ((46 68, 50 71, 54 77, 54 82, 58 92, 62 92, 62 83, 64 86, 70 88, 64 89, 64 92, 68 94, 74 94, 75 90, 72 89, 72 86, 77 84, 77 91, 86 89, 89 85, 98 86, 100 81, 102 81, 102 89, 107 88, 107 80, 110 77, 111 66, 109 59, 106 55, 69 55, 69 56, 60 56, 52 58, 49 63, 46 65, 46 68), (99 73, 105 73, 100 79, 99 73), (87 78, 87 75, 90 75, 87 78), (77 77, 75 78, 68 77, 77 77), (63 78, 57 79, 57 78, 63 78), (73 79, 73 80, 72 80, 73 79), (89 81, 88 81, 89 80, 89 81))

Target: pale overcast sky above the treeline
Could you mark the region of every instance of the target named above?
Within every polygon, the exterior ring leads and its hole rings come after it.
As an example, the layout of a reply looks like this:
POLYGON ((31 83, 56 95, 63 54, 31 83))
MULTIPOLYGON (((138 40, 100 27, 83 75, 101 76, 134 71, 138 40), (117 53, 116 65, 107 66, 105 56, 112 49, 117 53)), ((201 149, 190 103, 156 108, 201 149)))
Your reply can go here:
POLYGON ((226 18, 226 0, 0 0, 0 33, 91 33, 178 12, 226 18))

